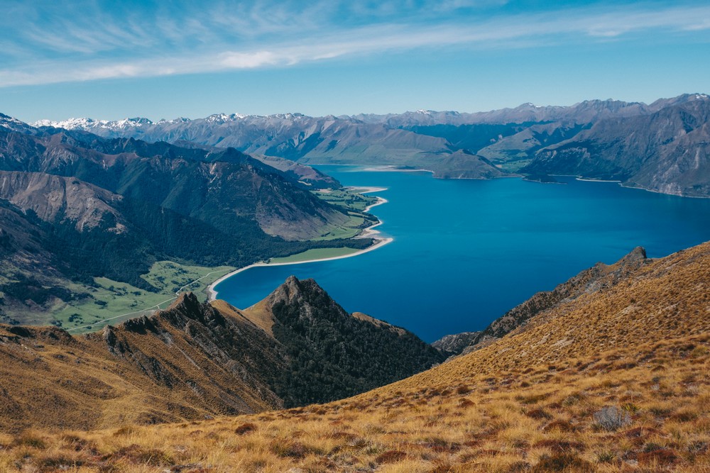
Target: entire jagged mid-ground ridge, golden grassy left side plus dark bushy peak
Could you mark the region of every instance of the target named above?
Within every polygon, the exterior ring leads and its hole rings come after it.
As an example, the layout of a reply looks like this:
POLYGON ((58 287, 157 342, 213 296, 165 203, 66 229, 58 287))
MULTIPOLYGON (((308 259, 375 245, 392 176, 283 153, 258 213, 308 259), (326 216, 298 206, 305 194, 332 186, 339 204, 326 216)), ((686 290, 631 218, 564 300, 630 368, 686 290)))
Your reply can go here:
POLYGON ((442 361, 406 330, 346 313, 290 277, 263 310, 183 294, 101 333, 0 325, 0 431, 195 420, 332 401, 442 361), (384 347, 384 348, 383 348, 384 347), (401 355, 405 355, 402 357, 401 355))

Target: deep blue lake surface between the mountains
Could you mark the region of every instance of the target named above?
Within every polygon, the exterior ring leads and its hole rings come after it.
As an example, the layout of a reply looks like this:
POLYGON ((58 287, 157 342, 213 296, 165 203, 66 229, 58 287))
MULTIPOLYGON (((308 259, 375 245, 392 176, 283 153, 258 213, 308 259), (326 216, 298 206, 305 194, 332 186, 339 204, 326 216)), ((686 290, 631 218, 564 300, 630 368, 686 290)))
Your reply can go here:
POLYGON ((650 257, 710 240, 710 199, 558 178, 433 179, 428 172, 319 166, 346 186, 386 187, 372 212, 394 238, 342 260, 256 267, 219 284, 219 299, 255 304, 290 275, 314 278, 347 311, 427 342, 481 330, 537 291, 643 246, 650 257))

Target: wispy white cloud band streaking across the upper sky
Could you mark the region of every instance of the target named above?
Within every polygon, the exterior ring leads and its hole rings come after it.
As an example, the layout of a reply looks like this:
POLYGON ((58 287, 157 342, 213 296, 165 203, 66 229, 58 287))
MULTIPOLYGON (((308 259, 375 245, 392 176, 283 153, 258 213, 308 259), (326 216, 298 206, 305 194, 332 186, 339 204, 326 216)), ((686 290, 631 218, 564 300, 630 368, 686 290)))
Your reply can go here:
POLYGON ((186 1, 107 11, 99 8, 103 2, 45 9, 16 2, 9 6, 14 21, 0 20, 0 44, 6 45, 0 87, 289 67, 422 48, 517 48, 710 30, 710 6, 577 8, 523 16, 499 11, 505 3, 259 0, 203 9, 186 1))

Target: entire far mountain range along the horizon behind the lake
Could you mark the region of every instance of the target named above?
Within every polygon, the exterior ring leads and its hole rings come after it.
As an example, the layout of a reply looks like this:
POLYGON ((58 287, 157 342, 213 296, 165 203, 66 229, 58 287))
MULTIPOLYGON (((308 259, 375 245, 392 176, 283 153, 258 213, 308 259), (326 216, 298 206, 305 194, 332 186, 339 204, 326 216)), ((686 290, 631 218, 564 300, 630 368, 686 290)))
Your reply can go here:
POLYGON ((571 174, 666 194, 708 196, 709 111, 707 95, 684 94, 648 105, 590 100, 479 113, 219 113, 155 123, 146 118, 72 118, 35 126, 87 130, 109 138, 234 147, 302 163, 414 167, 428 169, 435 177, 571 174))

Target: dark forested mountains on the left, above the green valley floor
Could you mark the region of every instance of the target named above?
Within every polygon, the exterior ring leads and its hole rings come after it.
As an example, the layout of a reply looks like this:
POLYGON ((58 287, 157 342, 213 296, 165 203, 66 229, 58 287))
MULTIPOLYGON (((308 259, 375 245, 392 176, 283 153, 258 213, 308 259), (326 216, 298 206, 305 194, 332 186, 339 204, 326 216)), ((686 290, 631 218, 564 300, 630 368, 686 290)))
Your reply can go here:
POLYGON ((96 277, 151 291, 157 260, 241 267, 371 244, 322 238, 351 215, 311 192, 340 184, 310 167, 0 118, 0 320, 90 298, 96 277))

